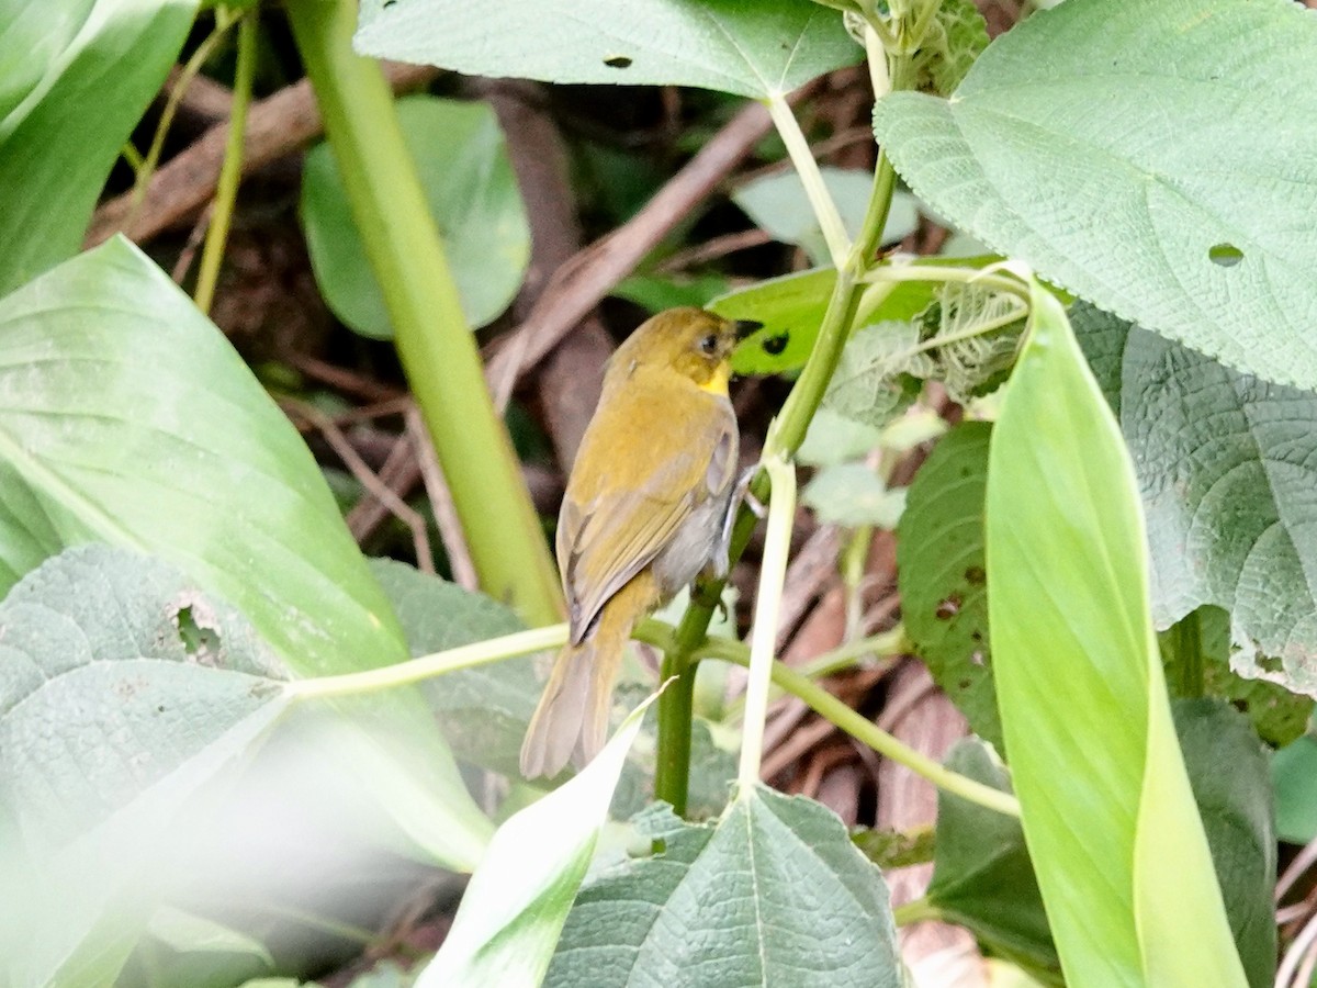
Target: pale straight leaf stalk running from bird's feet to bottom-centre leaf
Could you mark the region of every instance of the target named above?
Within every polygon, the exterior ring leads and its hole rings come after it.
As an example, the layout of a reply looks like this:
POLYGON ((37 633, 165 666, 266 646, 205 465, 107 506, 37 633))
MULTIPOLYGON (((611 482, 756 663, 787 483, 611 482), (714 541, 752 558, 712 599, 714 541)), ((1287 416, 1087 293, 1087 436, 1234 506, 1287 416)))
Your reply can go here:
MULTIPOLYGON (((740 769, 736 792, 748 798, 759 785, 764 756, 764 726, 768 722, 768 684, 773 678, 773 648, 777 643, 777 615, 782 603, 782 582, 792 552, 792 523, 795 518, 795 468, 774 457, 764 461, 773 485, 768 508, 764 561, 759 569, 755 599, 755 626, 749 645, 749 680, 745 684, 745 719, 741 726, 740 769)), ((687 730, 687 736, 690 731, 687 730)))

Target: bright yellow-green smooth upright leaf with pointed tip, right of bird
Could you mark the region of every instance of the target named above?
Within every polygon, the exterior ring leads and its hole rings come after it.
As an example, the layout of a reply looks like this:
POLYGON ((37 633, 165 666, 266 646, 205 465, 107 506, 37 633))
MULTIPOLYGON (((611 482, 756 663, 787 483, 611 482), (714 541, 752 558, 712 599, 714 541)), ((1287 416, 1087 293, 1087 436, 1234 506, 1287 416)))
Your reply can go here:
POLYGON ((997 700, 1067 983, 1243 985, 1175 740, 1134 469, 1036 283, 989 452, 997 700))

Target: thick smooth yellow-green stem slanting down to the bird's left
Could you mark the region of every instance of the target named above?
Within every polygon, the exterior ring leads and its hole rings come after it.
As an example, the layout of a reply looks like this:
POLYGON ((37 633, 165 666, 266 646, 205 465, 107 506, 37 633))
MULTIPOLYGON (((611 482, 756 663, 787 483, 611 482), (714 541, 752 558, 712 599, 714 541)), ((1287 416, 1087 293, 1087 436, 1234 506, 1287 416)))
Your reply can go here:
POLYGON ((379 65, 352 50, 357 4, 288 0, 287 11, 481 586, 531 624, 561 620, 548 544, 485 387, 392 94, 379 65))

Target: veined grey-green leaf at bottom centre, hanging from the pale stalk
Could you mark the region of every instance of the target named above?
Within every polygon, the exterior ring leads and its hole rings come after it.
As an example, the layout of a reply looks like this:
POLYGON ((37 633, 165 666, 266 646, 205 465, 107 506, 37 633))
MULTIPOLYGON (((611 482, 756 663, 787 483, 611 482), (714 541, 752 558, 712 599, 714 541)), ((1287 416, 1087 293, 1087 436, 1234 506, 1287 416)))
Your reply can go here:
POLYGON ((581 891, 545 985, 903 984, 882 876, 819 804, 759 786, 716 825, 635 825, 662 852, 581 891))

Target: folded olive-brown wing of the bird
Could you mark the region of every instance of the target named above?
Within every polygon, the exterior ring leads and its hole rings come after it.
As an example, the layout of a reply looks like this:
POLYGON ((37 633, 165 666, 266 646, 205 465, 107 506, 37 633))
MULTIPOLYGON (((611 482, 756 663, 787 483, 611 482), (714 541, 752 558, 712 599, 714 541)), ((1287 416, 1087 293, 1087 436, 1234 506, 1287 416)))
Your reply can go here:
POLYGON ((610 416, 591 424, 581 447, 601 466, 573 473, 558 519, 557 555, 579 643, 599 609, 672 540, 690 512, 720 494, 736 469, 736 419, 697 404, 655 416, 610 416), (648 422, 652 428, 637 428, 648 422), (656 427, 655 427, 656 425, 656 427), (631 451, 635 454, 620 456, 631 451), (601 454, 607 453, 607 454, 601 454))

